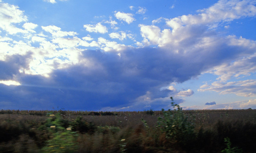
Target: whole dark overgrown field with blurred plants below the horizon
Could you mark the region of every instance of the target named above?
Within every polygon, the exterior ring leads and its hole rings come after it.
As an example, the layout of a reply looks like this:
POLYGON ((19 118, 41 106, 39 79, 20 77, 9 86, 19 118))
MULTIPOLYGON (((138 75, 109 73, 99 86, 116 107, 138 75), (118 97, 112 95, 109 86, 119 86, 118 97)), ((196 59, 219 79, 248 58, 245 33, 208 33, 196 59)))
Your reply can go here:
POLYGON ((256 110, 0 111, 1 153, 254 153, 256 110))

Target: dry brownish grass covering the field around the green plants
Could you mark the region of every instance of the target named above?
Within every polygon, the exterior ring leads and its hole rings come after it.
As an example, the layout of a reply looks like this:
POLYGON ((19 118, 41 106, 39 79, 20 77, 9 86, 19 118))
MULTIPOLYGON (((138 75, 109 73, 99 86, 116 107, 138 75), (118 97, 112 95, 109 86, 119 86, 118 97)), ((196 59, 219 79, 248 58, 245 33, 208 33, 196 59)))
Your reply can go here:
POLYGON ((47 113, 60 114, 65 124, 73 123, 78 116, 93 133, 79 133, 79 153, 186 153, 212 152, 224 149, 224 138, 244 152, 256 150, 256 110, 188 110, 183 111, 195 123, 195 138, 188 149, 168 142, 165 133, 156 129, 157 118, 162 111, 89 112, 89 111, 0 111, 0 152, 40 152, 52 132, 42 127, 47 113), (147 121, 145 128, 141 119, 147 121), (90 123, 90 124, 89 124, 90 123), (119 127, 120 130, 118 130, 119 127), (111 130, 114 129, 114 130, 111 130), (125 139, 124 141, 121 141, 125 139), (122 151, 123 150, 123 151, 122 151))

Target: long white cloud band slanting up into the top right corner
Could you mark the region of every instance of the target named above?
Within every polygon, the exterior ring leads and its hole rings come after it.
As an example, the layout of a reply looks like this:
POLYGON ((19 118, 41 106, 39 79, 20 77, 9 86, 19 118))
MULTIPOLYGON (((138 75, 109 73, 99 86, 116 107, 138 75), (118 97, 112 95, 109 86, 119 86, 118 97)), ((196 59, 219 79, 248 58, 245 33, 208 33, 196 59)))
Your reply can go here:
POLYGON ((242 1, 227 1, 219 0, 213 6, 198 10, 200 14, 182 15, 168 20, 166 23, 173 31, 187 25, 206 25, 219 22, 230 22, 241 17, 252 17, 256 14, 255 1, 242 0, 242 1))

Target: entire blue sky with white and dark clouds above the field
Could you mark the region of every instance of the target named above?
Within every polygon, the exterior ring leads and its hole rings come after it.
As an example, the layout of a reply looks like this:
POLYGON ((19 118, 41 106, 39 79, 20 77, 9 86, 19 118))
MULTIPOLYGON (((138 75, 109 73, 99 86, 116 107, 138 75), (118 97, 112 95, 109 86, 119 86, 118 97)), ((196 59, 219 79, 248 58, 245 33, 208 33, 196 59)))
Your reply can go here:
POLYGON ((256 0, 0 0, 0 109, 256 109, 256 0))

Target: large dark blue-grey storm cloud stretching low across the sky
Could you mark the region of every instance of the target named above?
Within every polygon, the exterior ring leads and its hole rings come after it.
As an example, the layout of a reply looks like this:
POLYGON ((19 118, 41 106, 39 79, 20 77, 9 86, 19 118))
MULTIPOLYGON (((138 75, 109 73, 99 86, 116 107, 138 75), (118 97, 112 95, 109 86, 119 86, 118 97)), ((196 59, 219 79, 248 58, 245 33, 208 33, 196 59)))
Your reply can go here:
MULTIPOLYGON (((29 55, 14 55, 0 63, 9 68, 4 69, 2 78, 15 76, 21 85, 1 85, 0 105, 9 102, 9 109, 165 108, 170 105, 169 96, 178 91, 160 90, 162 87, 196 77, 237 58, 241 51, 243 55, 253 51, 228 44, 230 38, 214 40, 212 45, 179 54, 172 48, 128 48, 120 55, 115 51, 85 50, 77 64, 53 70, 50 77, 20 73, 20 68, 27 67, 29 55)), ((178 97, 175 100, 183 102, 178 97)))

